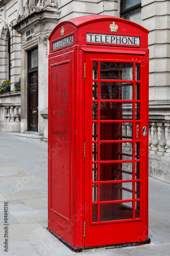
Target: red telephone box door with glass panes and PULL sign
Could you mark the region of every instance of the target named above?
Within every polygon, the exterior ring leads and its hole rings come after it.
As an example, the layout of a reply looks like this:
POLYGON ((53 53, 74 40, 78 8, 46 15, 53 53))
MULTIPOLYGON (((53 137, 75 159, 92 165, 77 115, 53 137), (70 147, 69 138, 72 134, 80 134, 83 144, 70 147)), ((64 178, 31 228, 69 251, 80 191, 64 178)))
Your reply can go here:
POLYGON ((145 241, 148 56, 86 53, 85 62, 85 247, 145 241))

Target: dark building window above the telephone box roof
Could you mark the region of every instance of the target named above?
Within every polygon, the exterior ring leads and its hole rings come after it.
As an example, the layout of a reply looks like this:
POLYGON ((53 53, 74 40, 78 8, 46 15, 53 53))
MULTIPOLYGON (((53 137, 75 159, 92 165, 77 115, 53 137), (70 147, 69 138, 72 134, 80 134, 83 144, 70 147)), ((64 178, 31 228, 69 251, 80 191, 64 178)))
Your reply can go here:
POLYGON ((120 17, 141 25, 141 0, 121 0, 120 17))

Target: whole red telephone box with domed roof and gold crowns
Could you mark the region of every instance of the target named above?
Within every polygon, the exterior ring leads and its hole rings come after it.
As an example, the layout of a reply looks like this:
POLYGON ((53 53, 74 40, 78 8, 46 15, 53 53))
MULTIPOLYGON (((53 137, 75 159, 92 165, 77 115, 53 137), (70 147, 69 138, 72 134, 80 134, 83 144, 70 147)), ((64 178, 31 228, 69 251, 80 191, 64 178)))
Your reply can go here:
POLYGON ((49 37, 48 230, 77 252, 150 242, 148 33, 90 15, 49 37))

